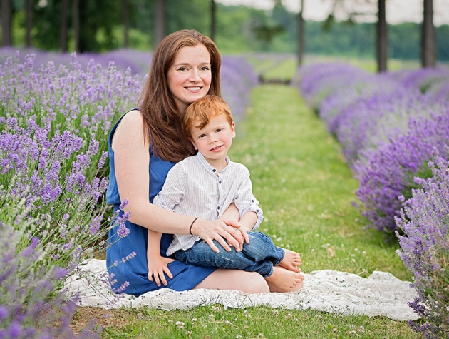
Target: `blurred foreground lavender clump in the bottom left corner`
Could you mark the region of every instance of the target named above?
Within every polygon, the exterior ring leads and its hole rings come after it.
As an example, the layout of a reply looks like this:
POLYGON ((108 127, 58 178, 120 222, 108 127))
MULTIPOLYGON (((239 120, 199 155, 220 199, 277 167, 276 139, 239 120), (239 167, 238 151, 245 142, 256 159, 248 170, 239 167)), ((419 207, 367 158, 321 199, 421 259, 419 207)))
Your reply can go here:
MULTIPOLYGON (((23 224, 24 225, 24 224, 23 224)), ((0 222, 2 234, 0 247, 10 260, 0 261, 0 275, 11 271, 0 284, 0 336, 1 338, 78 338, 70 328, 75 308, 58 290, 60 278, 65 270, 57 266, 50 268, 33 265, 35 258, 43 255, 33 239, 27 253, 18 255, 16 248, 22 238, 22 230, 0 222)), ((99 338, 98 330, 86 330, 86 338, 99 338)))

